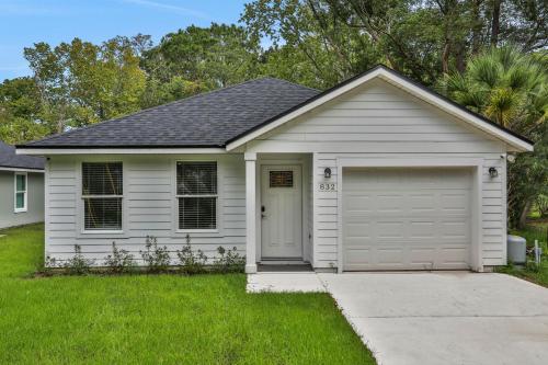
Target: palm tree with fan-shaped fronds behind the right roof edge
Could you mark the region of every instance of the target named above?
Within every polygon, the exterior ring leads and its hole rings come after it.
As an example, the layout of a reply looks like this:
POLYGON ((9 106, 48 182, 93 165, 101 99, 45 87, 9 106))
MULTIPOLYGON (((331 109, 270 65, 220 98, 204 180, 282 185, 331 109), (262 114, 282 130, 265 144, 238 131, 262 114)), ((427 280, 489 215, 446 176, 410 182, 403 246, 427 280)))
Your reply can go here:
POLYGON ((512 226, 524 226, 533 202, 548 185, 547 65, 546 56, 493 47, 471 58, 465 73, 443 82, 454 100, 536 141, 533 153, 521 153, 509 164, 512 226))

